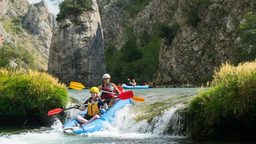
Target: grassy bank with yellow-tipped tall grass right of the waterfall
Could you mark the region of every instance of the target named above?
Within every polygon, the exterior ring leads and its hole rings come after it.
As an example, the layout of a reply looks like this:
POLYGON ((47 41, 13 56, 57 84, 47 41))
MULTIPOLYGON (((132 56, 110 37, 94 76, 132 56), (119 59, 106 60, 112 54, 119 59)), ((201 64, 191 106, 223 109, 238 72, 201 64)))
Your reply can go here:
POLYGON ((256 133, 256 61, 222 64, 212 88, 189 105, 195 138, 253 138, 256 133))

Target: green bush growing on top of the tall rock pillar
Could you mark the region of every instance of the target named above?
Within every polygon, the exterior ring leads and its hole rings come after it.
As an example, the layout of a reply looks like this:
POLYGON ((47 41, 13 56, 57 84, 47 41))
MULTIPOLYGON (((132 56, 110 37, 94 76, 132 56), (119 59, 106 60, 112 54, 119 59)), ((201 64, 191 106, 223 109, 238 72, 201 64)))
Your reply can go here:
POLYGON ((92 0, 65 0, 59 4, 60 12, 57 14, 57 21, 66 18, 68 15, 78 16, 86 11, 91 11, 92 0))

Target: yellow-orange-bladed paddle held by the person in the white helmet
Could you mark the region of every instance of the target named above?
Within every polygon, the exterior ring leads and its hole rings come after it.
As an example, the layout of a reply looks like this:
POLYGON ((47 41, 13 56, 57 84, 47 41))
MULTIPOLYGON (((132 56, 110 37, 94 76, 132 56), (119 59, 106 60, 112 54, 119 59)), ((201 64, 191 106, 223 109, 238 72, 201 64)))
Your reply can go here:
MULTIPOLYGON (((83 90, 83 89, 89 89, 90 88, 86 88, 84 87, 84 85, 82 83, 79 83, 79 82, 74 82, 74 81, 71 81, 70 84, 69 84, 69 88, 71 89, 74 89, 74 90, 83 90)), ((104 93, 110 93, 110 94, 115 94, 115 95, 118 95, 116 93, 111 93, 111 92, 106 92, 106 91, 102 91, 102 90, 99 90, 100 92, 104 92, 104 93)), ((131 92, 131 91, 127 91, 127 92, 131 92)), ((127 92, 123 92, 123 93, 127 93, 127 92)), ((121 93, 121 94, 123 94, 121 93)), ((121 95, 119 94, 119 96, 121 95)), ((133 97, 132 98, 134 101, 137 101, 137 102, 144 102, 145 101, 145 98, 140 98, 140 97, 133 97)))

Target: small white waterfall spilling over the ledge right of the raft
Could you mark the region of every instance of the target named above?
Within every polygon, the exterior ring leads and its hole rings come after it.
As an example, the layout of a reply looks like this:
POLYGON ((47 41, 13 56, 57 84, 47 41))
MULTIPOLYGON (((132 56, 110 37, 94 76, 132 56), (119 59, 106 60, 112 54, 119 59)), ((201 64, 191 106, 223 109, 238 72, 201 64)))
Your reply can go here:
MULTIPOLYGON (((162 135, 184 136, 180 133, 184 131, 183 117, 175 111, 184 106, 177 104, 163 111, 161 116, 156 116, 148 123, 147 120, 135 121, 137 114, 134 113, 133 106, 125 106, 117 111, 113 124, 108 125, 108 133, 116 134, 136 134, 136 136, 161 137, 162 135), (171 132, 171 134, 170 134, 171 132), (142 135, 141 135, 142 134, 142 135)), ((106 132, 106 131, 105 131, 106 132)), ((109 135, 108 135, 109 136, 109 135)), ((134 137, 134 136, 133 136, 134 137)))

